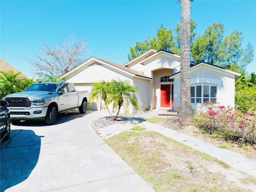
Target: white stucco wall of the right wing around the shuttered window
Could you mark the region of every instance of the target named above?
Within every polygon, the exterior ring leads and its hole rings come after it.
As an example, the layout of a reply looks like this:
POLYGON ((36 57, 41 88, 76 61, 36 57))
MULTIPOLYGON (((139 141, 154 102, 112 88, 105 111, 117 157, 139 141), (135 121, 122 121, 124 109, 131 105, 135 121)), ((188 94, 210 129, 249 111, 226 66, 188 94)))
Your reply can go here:
MULTIPOLYGON (((220 70, 213 70, 204 66, 190 73, 190 85, 198 83, 209 83, 217 86, 217 102, 220 105, 234 107, 235 76, 220 70)), ((174 80, 174 109, 180 105, 180 76, 174 80)), ((200 104, 192 104, 196 109, 200 104)))

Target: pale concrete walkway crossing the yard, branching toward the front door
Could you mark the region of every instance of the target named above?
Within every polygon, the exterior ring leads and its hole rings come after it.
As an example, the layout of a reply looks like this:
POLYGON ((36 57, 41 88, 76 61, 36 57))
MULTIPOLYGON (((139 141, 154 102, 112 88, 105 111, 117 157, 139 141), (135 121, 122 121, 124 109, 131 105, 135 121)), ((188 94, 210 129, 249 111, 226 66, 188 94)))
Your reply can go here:
MULTIPOLYGON (((141 121, 143 119, 151 118, 154 116, 158 116, 158 114, 162 114, 165 112, 164 110, 152 110, 152 112, 144 114, 142 116, 139 116, 141 121)), ((139 121, 138 121, 139 122, 139 121)), ((111 126, 107 126, 104 128, 100 128, 99 133, 102 138, 110 138, 116 134, 119 134, 123 131, 130 130, 135 126, 136 122, 126 122, 124 124, 114 124, 111 126)), ((246 156, 242 156, 240 154, 237 154, 235 152, 218 148, 217 146, 213 144, 209 144, 206 142, 203 142, 201 140, 198 140, 196 138, 190 137, 188 135, 179 133, 175 130, 171 130, 168 128, 165 128, 163 126, 159 126, 156 124, 152 124, 149 122, 141 122, 140 126, 143 126, 147 130, 159 132, 160 134, 167 136, 169 138, 172 138, 173 140, 176 140, 178 142, 181 142, 187 146, 190 146, 200 152, 204 152, 212 157, 217 158, 218 160, 221 160, 228 164, 229 166, 236 168, 238 170, 241 170, 242 172, 245 172, 247 174, 250 174, 254 177, 256 177, 256 160, 252 160, 250 158, 247 158, 246 156)))

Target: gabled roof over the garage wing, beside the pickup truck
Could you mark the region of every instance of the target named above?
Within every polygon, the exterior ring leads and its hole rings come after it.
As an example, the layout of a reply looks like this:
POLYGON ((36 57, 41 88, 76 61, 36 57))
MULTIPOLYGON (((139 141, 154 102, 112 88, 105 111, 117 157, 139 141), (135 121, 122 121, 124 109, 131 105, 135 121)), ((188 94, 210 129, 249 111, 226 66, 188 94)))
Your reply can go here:
POLYGON ((146 75, 144 75, 142 72, 139 72, 139 71, 136 71, 136 70, 133 70, 131 68, 128 68, 126 66, 123 66, 123 65, 119 65, 119 64, 116 64, 116 63, 113 63, 113 62, 110 62, 110 61, 107 61, 107 60, 103 60, 103 59, 100 59, 100 58, 96 58, 96 57, 91 57, 89 58, 88 60, 84 61, 83 63, 81 63, 80 65, 76 66, 75 68, 73 68, 72 70, 70 70, 69 72, 67 72, 66 74, 60 76, 60 79, 63 79, 67 76, 69 76, 70 74, 73 74, 74 72, 78 71, 80 68, 82 68, 83 66, 87 65, 87 64, 90 64, 92 63, 93 61, 96 61, 96 62, 100 62, 100 63, 104 63, 108 66, 112 66, 114 68, 118 68, 118 70, 122 70, 126 73, 129 73, 129 74, 132 74, 133 76, 138 76, 138 77, 142 77, 142 78, 147 78, 147 79, 152 79, 151 77, 148 77, 146 75))

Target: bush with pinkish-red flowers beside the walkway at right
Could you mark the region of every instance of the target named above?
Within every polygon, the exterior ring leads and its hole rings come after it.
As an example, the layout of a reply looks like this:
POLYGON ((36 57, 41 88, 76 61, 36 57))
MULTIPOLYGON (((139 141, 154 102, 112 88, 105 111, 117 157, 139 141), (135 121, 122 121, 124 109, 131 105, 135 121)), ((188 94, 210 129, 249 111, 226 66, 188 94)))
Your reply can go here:
POLYGON ((256 144, 256 116, 254 112, 242 113, 231 107, 206 102, 194 114, 195 125, 208 133, 219 134, 225 140, 256 144))

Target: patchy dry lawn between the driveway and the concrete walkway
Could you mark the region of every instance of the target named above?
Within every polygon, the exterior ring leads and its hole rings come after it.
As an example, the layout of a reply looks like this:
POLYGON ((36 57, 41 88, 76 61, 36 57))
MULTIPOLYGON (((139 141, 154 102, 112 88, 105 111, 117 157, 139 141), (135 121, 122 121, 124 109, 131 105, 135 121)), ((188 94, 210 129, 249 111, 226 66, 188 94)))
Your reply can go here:
POLYGON ((158 192, 249 192, 256 188, 252 176, 156 132, 127 131, 105 141, 158 192))

